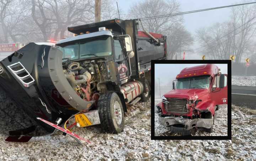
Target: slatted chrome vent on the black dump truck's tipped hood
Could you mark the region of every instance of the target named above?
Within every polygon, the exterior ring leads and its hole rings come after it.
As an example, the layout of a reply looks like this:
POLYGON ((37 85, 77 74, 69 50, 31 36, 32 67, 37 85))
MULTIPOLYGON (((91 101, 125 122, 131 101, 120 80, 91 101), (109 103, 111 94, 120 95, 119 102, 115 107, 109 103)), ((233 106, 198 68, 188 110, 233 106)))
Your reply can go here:
POLYGON ((28 73, 25 67, 20 63, 14 63, 7 66, 16 78, 24 85, 24 87, 30 87, 34 84, 34 78, 28 73))

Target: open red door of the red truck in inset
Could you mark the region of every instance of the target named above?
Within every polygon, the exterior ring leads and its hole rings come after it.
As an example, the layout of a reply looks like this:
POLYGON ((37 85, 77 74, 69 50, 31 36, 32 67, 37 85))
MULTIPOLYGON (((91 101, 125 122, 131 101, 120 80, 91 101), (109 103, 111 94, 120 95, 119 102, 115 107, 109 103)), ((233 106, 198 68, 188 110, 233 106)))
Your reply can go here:
POLYGON ((219 87, 219 75, 215 75, 211 85, 211 100, 216 102, 216 105, 228 104, 228 75, 225 74, 224 88, 219 87))

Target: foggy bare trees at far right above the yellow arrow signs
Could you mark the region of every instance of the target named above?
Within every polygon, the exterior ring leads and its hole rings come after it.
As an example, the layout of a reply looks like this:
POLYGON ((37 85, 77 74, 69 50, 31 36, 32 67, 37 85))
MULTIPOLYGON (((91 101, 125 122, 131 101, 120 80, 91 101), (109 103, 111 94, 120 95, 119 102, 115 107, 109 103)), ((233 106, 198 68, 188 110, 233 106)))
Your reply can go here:
POLYGON ((230 55, 235 55, 235 61, 241 62, 242 55, 250 48, 255 36, 255 8, 256 5, 234 7, 228 22, 199 29, 197 38, 202 44, 199 51, 212 59, 229 59, 230 55))

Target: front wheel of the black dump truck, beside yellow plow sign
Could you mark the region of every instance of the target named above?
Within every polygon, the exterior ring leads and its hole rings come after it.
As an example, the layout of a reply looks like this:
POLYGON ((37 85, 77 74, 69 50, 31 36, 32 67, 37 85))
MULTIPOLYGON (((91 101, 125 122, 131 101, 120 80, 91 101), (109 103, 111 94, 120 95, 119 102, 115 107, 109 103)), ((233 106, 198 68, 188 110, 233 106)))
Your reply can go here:
POLYGON ((103 132, 118 134, 124 128, 124 111, 119 96, 114 93, 102 94, 98 99, 98 113, 103 132))

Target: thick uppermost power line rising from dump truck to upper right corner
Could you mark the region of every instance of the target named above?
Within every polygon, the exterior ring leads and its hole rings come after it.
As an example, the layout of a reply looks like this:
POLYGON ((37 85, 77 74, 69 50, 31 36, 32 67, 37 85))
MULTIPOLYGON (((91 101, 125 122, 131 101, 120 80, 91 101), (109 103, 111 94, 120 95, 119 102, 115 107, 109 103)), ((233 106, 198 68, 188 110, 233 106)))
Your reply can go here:
POLYGON ((234 6, 241 6, 241 5, 249 5, 249 4, 255 4, 256 2, 250 2, 250 3, 243 3, 243 4, 236 4, 236 5, 228 5, 228 6, 221 6, 221 7, 213 7, 213 8, 208 8, 208 9, 201 9, 201 10, 193 10, 193 11, 186 11, 186 12, 178 12, 178 13, 171 13, 167 15, 159 15, 159 16, 150 16, 150 17, 143 17, 139 18, 140 20, 151 20, 154 18, 164 18, 164 17, 169 17, 169 16, 178 16, 178 15, 185 15, 189 13, 196 13, 196 12, 202 12, 202 11, 209 11, 209 10, 216 10, 216 9, 222 9, 222 8, 227 8, 227 7, 234 7, 234 6))

